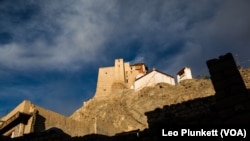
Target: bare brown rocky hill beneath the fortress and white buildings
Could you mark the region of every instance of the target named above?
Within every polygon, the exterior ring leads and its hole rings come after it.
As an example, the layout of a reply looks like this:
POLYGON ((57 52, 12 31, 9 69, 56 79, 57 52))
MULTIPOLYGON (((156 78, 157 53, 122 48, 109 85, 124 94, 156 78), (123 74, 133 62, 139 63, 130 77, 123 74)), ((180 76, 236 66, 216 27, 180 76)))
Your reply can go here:
MULTIPOLYGON (((246 87, 250 88, 250 68, 239 69, 246 87)), ((113 84, 108 97, 94 97, 76 110, 71 119, 83 121, 85 134, 115 135, 148 128, 145 113, 165 105, 172 105, 215 94, 208 78, 183 80, 175 86, 165 83, 145 87, 140 91, 126 89, 121 83, 113 84)))

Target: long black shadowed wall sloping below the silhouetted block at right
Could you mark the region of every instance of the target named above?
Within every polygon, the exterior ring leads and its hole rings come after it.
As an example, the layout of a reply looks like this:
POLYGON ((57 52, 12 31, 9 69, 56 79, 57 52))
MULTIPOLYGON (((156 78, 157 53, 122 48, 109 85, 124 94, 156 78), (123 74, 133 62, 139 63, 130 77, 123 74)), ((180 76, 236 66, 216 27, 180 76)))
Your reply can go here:
POLYGON ((250 95, 210 96, 146 113, 149 129, 250 125, 250 95))

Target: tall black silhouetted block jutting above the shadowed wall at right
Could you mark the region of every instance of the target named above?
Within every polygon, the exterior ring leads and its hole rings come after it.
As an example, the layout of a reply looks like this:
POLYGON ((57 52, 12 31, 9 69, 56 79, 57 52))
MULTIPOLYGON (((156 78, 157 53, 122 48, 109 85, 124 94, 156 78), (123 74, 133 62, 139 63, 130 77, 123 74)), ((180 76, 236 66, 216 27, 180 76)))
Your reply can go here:
POLYGON ((217 94, 246 93, 247 89, 231 53, 206 62, 217 94))

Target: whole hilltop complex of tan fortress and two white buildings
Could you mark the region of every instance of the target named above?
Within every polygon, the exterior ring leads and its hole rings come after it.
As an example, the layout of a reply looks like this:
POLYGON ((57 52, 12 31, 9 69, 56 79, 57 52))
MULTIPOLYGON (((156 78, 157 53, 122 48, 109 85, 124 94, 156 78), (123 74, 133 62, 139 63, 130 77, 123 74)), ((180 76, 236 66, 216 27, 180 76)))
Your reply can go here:
MULTIPOLYGON (((177 73, 177 82, 184 79, 192 79, 191 69, 188 67, 182 68, 177 73)), ((123 59, 115 59, 114 66, 99 68, 95 97, 107 96, 112 92, 112 87, 116 83, 123 84, 126 88, 139 90, 161 82, 175 85, 172 75, 155 68, 149 71, 144 63, 131 65, 123 59)))

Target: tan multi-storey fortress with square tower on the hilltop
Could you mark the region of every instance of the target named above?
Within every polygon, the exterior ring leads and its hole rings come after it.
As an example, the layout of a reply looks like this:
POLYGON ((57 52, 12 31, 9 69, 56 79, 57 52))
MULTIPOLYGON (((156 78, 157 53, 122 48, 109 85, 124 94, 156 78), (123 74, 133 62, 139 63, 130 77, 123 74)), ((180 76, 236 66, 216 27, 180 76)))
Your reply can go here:
POLYGON ((112 84, 123 83, 127 88, 133 86, 137 75, 144 75, 148 71, 144 63, 130 65, 123 59, 115 59, 114 66, 101 67, 98 72, 98 80, 95 97, 106 96, 111 92, 112 84))

